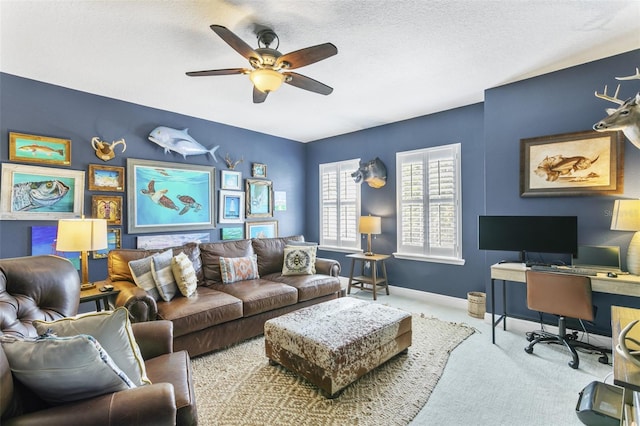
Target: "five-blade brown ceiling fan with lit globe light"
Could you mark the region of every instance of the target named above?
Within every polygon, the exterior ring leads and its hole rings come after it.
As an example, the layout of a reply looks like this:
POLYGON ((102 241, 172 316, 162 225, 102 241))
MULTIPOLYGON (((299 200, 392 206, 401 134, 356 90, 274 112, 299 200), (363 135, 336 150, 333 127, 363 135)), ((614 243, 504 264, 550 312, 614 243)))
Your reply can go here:
POLYGON ((240 37, 221 25, 211 25, 211 29, 220 36, 236 52, 249 60, 253 69, 227 68, 208 71, 189 71, 190 77, 202 77, 209 75, 249 74, 253 83, 253 102, 262 103, 267 95, 277 90, 284 82, 310 92, 328 95, 333 89, 302 74, 289 70, 301 68, 314 62, 321 61, 338 53, 331 43, 319 44, 283 55, 278 52, 280 39, 271 29, 263 29, 258 32, 258 48, 252 49, 240 37), (275 49, 270 48, 276 41, 275 49))

